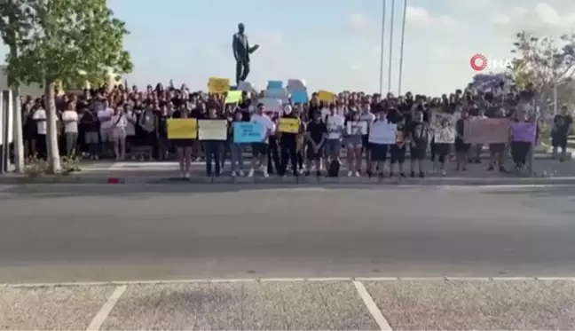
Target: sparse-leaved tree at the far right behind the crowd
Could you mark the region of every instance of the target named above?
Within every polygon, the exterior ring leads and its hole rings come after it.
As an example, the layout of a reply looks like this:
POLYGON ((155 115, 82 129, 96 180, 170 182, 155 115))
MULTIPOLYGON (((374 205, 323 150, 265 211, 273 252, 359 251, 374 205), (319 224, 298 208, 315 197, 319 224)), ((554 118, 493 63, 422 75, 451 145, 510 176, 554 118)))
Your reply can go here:
POLYGON ((518 85, 532 84, 540 111, 549 109, 555 86, 568 83, 575 74, 575 33, 539 37, 525 31, 516 34, 513 75, 518 85))

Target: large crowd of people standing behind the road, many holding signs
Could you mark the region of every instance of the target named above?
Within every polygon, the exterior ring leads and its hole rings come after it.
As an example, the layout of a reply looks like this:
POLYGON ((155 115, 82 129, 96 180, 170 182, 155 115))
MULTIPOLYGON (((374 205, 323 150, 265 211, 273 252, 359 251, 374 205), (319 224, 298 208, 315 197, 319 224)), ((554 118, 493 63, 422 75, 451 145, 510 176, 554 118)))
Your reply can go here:
MULTIPOLYGON (((190 176, 193 161, 205 160, 208 176, 220 176, 229 160, 232 176, 264 177, 273 173, 285 176, 290 166, 294 176, 328 175, 342 164, 349 177, 410 176, 424 177, 424 162, 433 161, 433 170, 445 174, 445 164, 455 162, 455 169, 465 171, 469 162, 480 162, 482 146, 463 139, 463 125, 468 116, 508 117, 511 121, 530 121, 535 112, 531 91, 477 92, 466 89, 440 98, 388 93, 368 95, 342 92, 333 102, 320 101, 317 93, 303 104, 287 103, 281 112, 270 112, 258 99, 263 92, 244 92, 239 104, 225 104, 224 95, 191 92, 180 88, 148 85, 145 90, 118 85, 98 90, 61 94, 56 100, 59 151, 62 155, 96 160, 118 161, 129 155, 133 160, 168 160, 175 155, 182 177, 190 176), (527 109, 527 110, 526 110, 527 109), (453 144, 435 144, 429 120, 434 113, 457 114, 453 144), (281 117, 299 118, 297 133, 277 130, 281 117), (225 119, 230 122, 228 141, 200 141, 168 138, 170 118, 225 119), (398 128, 396 144, 377 146, 368 141, 368 131, 346 130, 347 122, 392 122, 398 128), (232 139, 232 122, 258 122, 266 133, 261 143, 237 144, 232 139), (341 160, 345 151, 345 160, 341 160), (244 164, 244 154, 251 152, 251 164, 244 164), (409 169, 405 168, 409 154, 409 169), (322 174, 322 169, 325 172, 322 174)), ((25 153, 46 158, 47 114, 43 99, 22 99, 25 153)), ((551 133, 555 148, 565 153, 572 119, 567 108, 557 114, 551 133)), ((368 130, 368 129, 367 129, 368 130)), ((488 170, 506 171, 504 160, 511 148, 516 167, 522 168, 530 146, 492 144, 488 170)))

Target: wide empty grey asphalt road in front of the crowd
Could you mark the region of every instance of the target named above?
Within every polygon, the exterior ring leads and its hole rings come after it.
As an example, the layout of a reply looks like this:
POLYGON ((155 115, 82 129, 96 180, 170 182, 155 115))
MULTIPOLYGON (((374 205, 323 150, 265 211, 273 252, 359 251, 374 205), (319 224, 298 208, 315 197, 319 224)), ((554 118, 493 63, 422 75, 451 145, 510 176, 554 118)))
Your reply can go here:
POLYGON ((571 186, 0 191, 0 283, 575 275, 571 186))

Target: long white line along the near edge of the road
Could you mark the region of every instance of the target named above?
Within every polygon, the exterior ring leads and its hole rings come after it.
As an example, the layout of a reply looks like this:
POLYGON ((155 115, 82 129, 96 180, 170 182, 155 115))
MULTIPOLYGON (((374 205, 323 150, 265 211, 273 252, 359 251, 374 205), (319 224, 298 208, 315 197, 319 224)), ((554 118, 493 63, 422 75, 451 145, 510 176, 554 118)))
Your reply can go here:
POLYGON ((93 287, 93 286, 128 286, 128 285, 161 285, 161 284, 194 284, 194 283, 242 283, 242 282, 300 282, 300 281, 437 281, 437 280, 504 280, 504 281, 536 281, 563 280, 575 281, 575 277, 296 277, 296 278, 238 278, 238 279, 193 279, 193 280, 113 280, 113 281, 79 281, 54 283, 4 283, 0 288, 55 288, 55 287, 93 287))

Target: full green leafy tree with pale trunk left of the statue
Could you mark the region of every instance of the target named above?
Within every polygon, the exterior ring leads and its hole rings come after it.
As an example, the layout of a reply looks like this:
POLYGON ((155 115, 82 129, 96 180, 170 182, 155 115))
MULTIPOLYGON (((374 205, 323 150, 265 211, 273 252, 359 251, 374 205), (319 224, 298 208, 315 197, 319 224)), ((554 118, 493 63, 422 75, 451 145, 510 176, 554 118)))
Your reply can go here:
POLYGON ((125 23, 114 18, 106 0, 20 0, 28 12, 28 33, 16 35, 18 54, 8 55, 9 75, 23 83, 42 83, 48 117, 51 171, 59 172, 55 85, 97 81, 110 70, 131 71, 123 49, 125 23))

